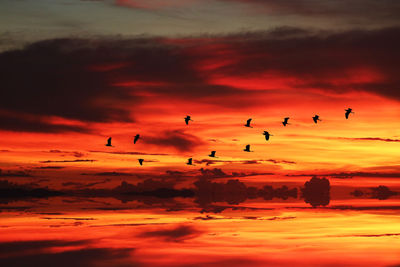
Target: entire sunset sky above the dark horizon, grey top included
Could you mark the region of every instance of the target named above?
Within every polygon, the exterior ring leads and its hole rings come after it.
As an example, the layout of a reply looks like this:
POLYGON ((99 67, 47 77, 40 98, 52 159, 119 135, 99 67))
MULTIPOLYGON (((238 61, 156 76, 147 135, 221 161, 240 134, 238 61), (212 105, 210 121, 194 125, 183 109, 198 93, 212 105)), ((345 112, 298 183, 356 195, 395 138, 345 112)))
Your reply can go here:
POLYGON ((0 168, 398 172, 399 5, 3 0, 0 168))

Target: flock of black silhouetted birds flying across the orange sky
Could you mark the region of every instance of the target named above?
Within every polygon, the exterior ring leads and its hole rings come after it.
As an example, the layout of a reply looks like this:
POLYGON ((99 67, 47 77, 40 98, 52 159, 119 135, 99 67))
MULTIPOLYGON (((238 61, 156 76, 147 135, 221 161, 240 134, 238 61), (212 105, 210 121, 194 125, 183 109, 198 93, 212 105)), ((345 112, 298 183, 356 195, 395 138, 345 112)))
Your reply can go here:
MULTIPOLYGON (((351 113, 354 113, 353 110, 352 110, 351 108, 345 109, 345 111, 346 111, 346 112, 345 112, 344 116, 345 116, 346 119, 349 118, 349 116, 350 116, 351 113)), ((191 119, 190 116, 186 116, 184 119, 185 119, 186 125, 189 125, 189 121, 193 121, 193 120, 191 119)), ((283 126, 286 127, 287 125, 290 124, 290 123, 289 123, 289 119, 290 119, 289 117, 286 117, 286 118, 283 119, 283 121, 282 121, 283 126)), ((314 117, 312 117, 312 119, 313 119, 314 123, 318 123, 318 121, 322 121, 322 120, 319 118, 318 115, 315 115, 314 117)), ((253 127, 250 125, 250 124, 251 124, 251 120, 252 120, 252 119, 248 119, 248 120, 246 121, 246 124, 245 124, 244 126, 245 126, 245 127, 249 127, 249 128, 253 128, 253 127)), ((268 131, 264 131, 263 135, 265 135, 265 140, 267 140, 267 141, 269 140, 269 137, 270 137, 270 136, 273 136, 273 135, 270 134, 268 131)), ((139 135, 139 134, 135 135, 135 137, 133 138, 133 144, 136 144, 136 142, 139 140, 139 138, 140 138, 140 135, 139 135)), ((111 137, 109 137, 109 138, 107 139, 107 144, 106 144, 106 146, 112 146, 112 145, 111 145, 111 137)), ((243 151, 245 151, 245 152, 253 152, 253 151, 250 150, 250 145, 246 145, 246 148, 243 149, 243 151)), ((211 157, 211 158, 217 158, 217 156, 215 156, 215 153, 217 153, 217 151, 211 151, 210 155, 208 155, 208 156, 211 157)), ((144 159, 138 159, 138 161, 139 161, 139 164, 140 164, 140 165, 143 165, 144 159)), ((189 158, 186 164, 187 164, 187 165, 193 165, 193 158, 189 158)))

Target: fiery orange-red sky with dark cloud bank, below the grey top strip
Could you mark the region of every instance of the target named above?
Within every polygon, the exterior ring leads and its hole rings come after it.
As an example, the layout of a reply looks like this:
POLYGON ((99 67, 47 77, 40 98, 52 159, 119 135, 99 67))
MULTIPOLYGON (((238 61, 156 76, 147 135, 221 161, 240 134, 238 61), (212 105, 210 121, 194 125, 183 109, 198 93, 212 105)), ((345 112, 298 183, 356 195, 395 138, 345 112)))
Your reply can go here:
POLYGON ((64 175, 187 171, 207 167, 199 161, 216 150, 219 158, 208 167, 228 171, 398 172, 397 56, 390 57, 393 44, 376 41, 396 33, 283 29, 280 35, 99 39, 91 46, 67 39, 1 55, 3 65, 12 63, 4 73, 0 168, 35 172, 57 165, 66 167, 64 175), (60 65, 51 67, 55 60, 60 65), (355 114, 346 120, 348 107, 355 114), (193 119, 188 126, 186 115, 193 119), (248 118, 254 128, 244 127, 248 118), (273 134, 268 142, 264 130, 273 134), (104 146, 108 137, 113 147, 104 146), (246 144, 254 153, 243 152, 246 144), (197 166, 185 165, 189 157, 197 166))

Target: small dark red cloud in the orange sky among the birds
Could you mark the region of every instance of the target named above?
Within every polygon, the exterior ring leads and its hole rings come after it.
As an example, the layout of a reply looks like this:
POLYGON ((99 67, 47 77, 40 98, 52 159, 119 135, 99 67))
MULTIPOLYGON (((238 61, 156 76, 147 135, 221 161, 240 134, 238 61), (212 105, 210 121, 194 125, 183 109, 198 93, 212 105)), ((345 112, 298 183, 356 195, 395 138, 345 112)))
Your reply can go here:
POLYGON ((158 136, 146 136, 142 139, 146 144, 171 147, 179 152, 190 152, 205 144, 199 137, 185 133, 183 130, 165 131, 158 136))

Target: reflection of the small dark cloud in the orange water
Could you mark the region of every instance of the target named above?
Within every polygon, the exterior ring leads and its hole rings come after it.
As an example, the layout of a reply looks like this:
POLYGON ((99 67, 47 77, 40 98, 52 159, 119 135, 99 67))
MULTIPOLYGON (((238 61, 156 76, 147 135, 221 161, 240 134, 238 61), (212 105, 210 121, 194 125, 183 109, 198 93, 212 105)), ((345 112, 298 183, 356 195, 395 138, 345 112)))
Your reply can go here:
POLYGON ((163 228, 140 233, 139 237, 156 237, 168 242, 182 242, 200 236, 203 232, 191 225, 178 225, 173 228, 163 228))

